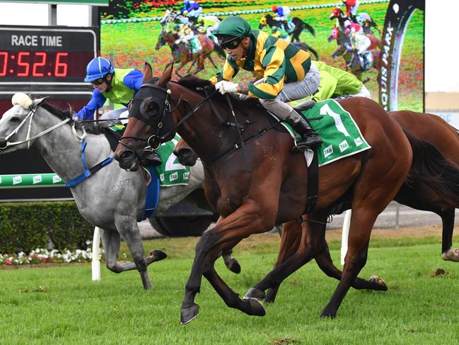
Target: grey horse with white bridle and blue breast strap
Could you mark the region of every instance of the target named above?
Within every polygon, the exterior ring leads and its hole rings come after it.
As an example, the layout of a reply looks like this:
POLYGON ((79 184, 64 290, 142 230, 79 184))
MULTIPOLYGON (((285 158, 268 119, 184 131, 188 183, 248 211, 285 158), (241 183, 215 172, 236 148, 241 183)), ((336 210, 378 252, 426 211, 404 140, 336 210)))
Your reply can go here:
MULTIPOLYGON (((22 93, 13 96, 13 107, 0 119, 0 154, 34 147, 64 181, 83 174, 83 138, 87 143, 85 158, 88 168, 111 157, 112 150, 105 135, 86 133, 81 124, 71 120, 69 114, 44 102, 44 99, 33 100, 22 93)), ((203 188, 203 182, 202 164, 193 166, 187 186, 161 188, 156 211, 162 212, 195 189, 203 188)), ((150 255, 145 256, 142 246, 137 220, 145 203, 144 173, 141 170, 125 171, 120 169, 119 164, 108 164, 71 188, 71 193, 81 215, 101 230, 107 268, 115 273, 136 268, 144 288, 149 290, 151 281, 146 268, 155 261, 165 259, 166 254, 161 250, 151 250, 150 255), (121 237, 129 247, 133 262, 117 262, 121 237)), ((238 266, 236 259, 229 254, 223 258, 228 268, 234 264, 238 266)))

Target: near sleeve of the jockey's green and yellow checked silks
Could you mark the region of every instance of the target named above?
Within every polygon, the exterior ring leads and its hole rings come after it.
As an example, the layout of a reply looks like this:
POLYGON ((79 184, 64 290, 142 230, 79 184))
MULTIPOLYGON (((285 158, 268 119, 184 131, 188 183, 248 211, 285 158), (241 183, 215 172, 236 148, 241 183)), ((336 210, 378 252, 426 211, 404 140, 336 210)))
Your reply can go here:
POLYGON ((264 82, 249 83, 249 96, 262 99, 276 98, 284 87, 285 55, 280 47, 272 45, 262 52, 260 57, 264 69, 264 82))

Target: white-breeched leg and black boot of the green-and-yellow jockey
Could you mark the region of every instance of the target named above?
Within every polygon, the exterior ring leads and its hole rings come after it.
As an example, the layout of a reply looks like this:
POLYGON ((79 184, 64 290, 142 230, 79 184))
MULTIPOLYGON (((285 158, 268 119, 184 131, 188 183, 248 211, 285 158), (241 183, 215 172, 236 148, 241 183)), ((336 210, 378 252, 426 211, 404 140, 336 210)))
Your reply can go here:
POLYGON ((303 137, 303 140, 296 142, 296 146, 301 149, 316 147, 322 143, 322 140, 315 130, 310 128, 308 121, 285 102, 296 101, 314 94, 318 90, 319 84, 319 70, 311 64, 310 70, 303 80, 284 84, 284 88, 274 99, 260 98, 260 103, 264 108, 292 125, 294 130, 303 137))

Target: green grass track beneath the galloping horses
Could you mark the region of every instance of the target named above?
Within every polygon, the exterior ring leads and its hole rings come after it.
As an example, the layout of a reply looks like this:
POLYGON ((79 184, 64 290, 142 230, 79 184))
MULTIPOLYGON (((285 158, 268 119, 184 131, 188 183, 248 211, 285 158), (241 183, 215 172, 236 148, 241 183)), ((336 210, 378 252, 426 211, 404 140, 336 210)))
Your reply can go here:
MULTIPOLYGON (((336 282, 310 263, 286 280, 262 318, 226 307, 204 279, 198 319, 180 326, 197 239, 145 243, 169 254, 149 267, 149 292, 135 271, 116 275, 103 268, 102 281, 91 283, 89 265, 0 270, 0 344, 454 344, 459 264, 441 260, 438 227, 425 232, 407 237, 403 230, 375 230, 361 276, 379 274, 389 291, 350 290, 336 319, 318 317, 336 282), (440 267, 447 274, 432 278, 440 267), (39 286, 45 292, 18 292, 39 286)), ((327 234, 335 262, 339 235, 327 234)), ((278 246, 275 234, 250 237, 236 248, 242 273, 226 271, 220 259, 217 271, 243 294, 272 267, 278 246)))

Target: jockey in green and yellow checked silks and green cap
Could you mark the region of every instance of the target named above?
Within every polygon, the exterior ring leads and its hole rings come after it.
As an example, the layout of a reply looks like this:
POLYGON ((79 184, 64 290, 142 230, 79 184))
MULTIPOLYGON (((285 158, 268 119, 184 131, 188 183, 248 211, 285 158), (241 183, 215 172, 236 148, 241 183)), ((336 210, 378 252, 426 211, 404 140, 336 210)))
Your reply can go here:
POLYGON ((311 65, 309 53, 263 31, 251 30, 250 24, 240 16, 225 18, 215 35, 227 54, 223 80, 211 79, 216 83, 215 88, 221 94, 238 92, 260 98, 264 108, 292 125, 303 137, 296 142, 298 148, 320 145, 322 140, 318 134, 302 115, 285 103, 318 90, 320 74, 317 67, 311 65), (256 72, 262 77, 261 82, 231 82, 240 68, 256 72))

